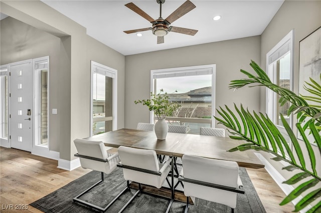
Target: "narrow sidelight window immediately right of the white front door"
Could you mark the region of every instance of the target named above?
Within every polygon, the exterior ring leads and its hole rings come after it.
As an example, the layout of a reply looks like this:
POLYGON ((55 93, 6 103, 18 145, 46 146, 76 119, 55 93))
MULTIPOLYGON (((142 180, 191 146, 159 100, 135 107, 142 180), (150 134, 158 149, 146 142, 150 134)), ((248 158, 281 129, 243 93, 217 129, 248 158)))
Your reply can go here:
POLYGON ((49 57, 34 61, 35 76, 35 141, 36 145, 48 147, 49 136, 49 57))

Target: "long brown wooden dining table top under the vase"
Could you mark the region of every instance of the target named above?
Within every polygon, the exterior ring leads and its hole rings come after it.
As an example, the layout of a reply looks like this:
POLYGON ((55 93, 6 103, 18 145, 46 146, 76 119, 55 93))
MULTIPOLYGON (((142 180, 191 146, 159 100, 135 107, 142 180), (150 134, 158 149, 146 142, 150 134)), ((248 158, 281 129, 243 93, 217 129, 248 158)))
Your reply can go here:
POLYGON ((183 154, 191 154, 207 158, 232 160, 243 167, 264 167, 264 164, 257 158, 253 150, 228 152, 227 150, 243 143, 229 137, 169 132, 165 140, 158 140, 153 131, 122 128, 85 139, 103 141, 106 146, 116 148, 123 145, 152 149, 157 154, 169 156, 182 157, 183 154))

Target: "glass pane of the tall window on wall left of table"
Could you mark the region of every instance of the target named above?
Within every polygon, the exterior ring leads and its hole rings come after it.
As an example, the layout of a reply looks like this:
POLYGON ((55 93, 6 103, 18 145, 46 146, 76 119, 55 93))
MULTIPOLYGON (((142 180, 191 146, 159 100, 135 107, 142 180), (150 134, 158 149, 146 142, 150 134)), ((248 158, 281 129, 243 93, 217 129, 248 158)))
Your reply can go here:
POLYGON ((93 134, 112 130, 112 78, 93 73, 93 134))

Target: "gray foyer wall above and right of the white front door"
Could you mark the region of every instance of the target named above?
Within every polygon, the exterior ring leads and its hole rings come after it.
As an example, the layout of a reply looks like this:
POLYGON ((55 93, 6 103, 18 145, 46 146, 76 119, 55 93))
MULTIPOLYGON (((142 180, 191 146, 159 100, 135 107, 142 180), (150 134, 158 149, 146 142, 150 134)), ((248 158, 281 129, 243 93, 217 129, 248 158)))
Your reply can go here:
MULTIPOLYGON (((19 21, 12 17, 1 20, 1 65, 21 60, 27 60, 49 55, 51 81, 49 87, 50 105, 49 108, 57 107, 61 99, 57 82, 60 82, 60 38, 50 33, 39 30, 31 25, 19 21)), ((50 114, 49 131, 59 132, 59 115, 50 114)), ((59 150, 59 134, 50 134, 50 150, 59 150)))

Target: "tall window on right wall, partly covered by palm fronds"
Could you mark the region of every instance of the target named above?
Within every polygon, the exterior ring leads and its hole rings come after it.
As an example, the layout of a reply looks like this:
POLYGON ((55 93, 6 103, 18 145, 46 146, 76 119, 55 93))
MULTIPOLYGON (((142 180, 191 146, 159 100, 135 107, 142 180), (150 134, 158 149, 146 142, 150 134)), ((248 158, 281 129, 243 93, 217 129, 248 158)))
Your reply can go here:
MULTIPOLYGON (((292 89, 292 64, 293 64, 293 30, 290 31, 275 47, 267 53, 268 75, 273 83, 280 87, 292 89)), ((292 125, 292 118, 287 116, 289 103, 281 106, 279 96, 267 90, 267 114, 273 122, 282 128, 280 114, 282 114, 288 124, 292 125)))

